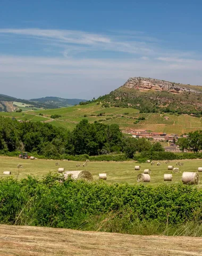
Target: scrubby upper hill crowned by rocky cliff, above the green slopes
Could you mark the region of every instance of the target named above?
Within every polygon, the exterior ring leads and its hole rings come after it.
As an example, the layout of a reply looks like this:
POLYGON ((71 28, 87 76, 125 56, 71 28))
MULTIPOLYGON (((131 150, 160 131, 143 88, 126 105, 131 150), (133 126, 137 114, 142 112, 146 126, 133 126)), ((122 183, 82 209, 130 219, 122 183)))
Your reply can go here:
POLYGON ((173 111, 190 114, 202 111, 202 86, 133 77, 98 100, 111 106, 133 107, 147 113, 173 111))

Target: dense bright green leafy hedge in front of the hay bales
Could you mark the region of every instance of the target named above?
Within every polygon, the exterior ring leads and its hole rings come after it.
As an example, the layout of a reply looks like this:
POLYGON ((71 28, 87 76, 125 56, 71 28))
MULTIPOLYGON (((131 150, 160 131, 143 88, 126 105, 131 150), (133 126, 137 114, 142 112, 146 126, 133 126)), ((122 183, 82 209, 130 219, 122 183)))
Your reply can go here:
POLYGON ((72 179, 58 182, 61 179, 48 174, 43 180, 0 180, 0 222, 85 230, 90 219, 96 222, 98 216, 112 213, 129 223, 139 220, 177 225, 202 220, 202 190, 197 187, 72 179))

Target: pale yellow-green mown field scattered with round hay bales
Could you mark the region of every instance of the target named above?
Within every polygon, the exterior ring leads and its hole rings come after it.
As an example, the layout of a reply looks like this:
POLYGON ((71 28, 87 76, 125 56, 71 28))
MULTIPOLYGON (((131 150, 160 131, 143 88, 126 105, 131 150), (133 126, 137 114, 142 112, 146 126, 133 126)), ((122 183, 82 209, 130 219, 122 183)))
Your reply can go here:
MULTIPOLYGON (((144 172, 144 169, 150 169, 152 173, 150 174, 151 180, 150 185, 158 185, 160 183, 165 183, 163 181, 163 176, 166 173, 173 174, 173 180, 166 183, 182 183, 181 177, 182 172, 198 172, 198 167, 202 167, 201 159, 193 160, 183 160, 178 161, 182 162, 184 166, 176 166, 177 161, 170 161, 169 164, 166 164, 165 161, 160 161, 162 164, 157 166, 150 164, 137 164, 135 162, 89 162, 86 167, 82 166, 83 162, 80 162, 81 166, 76 167, 78 162, 74 161, 55 161, 55 160, 44 160, 44 159, 18 159, 14 157, 0 157, 0 178, 7 177, 3 175, 3 171, 11 171, 13 177, 18 179, 26 178, 27 175, 34 175, 35 177, 42 178, 49 171, 57 172, 58 166, 55 166, 55 162, 60 163, 60 167, 64 167, 65 171, 74 171, 74 170, 87 170, 91 172, 94 177, 94 180, 98 180, 99 173, 107 173, 106 182, 119 182, 124 183, 128 182, 130 184, 137 183, 137 175, 144 172), (22 164, 23 168, 18 169, 18 164, 22 164), (134 171, 134 166, 140 165, 140 171, 134 171), (173 173, 172 171, 167 170, 168 165, 173 165, 174 167, 179 167, 180 173, 173 173)), ((202 172, 199 173, 200 179, 202 182, 202 172)), ((199 185, 202 186, 202 185, 199 185)))

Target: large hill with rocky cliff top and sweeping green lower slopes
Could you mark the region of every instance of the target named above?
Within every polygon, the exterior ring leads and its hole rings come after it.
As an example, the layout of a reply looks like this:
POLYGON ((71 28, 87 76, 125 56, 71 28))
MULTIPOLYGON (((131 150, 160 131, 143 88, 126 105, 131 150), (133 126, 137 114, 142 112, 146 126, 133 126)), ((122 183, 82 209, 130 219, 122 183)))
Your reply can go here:
MULTIPOLYGON (((70 101, 46 97, 32 99, 70 101)), ((48 103, 47 103, 48 104, 48 103)), ((188 133, 202 129, 202 87, 176 84, 151 78, 130 78, 110 94, 69 108, 29 110, 24 113, 1 113, 20 120, 40 121, 74 127, 83 119, 104 124, 116 123, 121 130, 146 129, 154 132, 188 133), (54 115, 59 115, 53 118, 54 115)))

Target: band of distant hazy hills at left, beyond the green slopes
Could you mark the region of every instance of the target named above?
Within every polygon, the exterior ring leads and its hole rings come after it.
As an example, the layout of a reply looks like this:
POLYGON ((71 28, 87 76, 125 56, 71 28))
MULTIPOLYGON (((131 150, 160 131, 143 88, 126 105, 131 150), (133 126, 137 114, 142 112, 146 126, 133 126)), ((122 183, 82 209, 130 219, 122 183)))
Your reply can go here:
POLYGON ((58 97, 45 97, 39 99, 24 100, 0 94, 0 111, 13 112, 18 109, 27 111, 29 109, 54 109, 61 107, 71 107, 79 104, 79 102, 86 100, 80 99, 62 99, 58 97))

